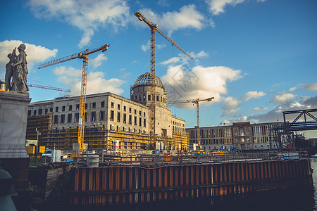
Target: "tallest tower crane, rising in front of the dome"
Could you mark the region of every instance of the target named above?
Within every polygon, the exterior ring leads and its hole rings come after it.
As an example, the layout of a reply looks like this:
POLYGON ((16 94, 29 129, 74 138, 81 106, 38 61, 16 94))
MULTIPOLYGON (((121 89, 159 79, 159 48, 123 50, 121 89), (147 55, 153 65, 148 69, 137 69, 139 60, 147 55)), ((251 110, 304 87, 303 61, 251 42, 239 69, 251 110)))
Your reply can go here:
POLYGON ((150 94, 151 94, 151 101, 150 101, 150 143, 151 146, 156 142, 156 134, 155 134, 155 32, 158 32, 162 35, 165 39, 167 39, 173 46, 178 48, 182 53, 185 53, 186 56, 192 59, 192 56, 190 56, 186 51, 184 51, 178 44, 175 43, 170 37, 168 37, 164 32, 162 32, 157 24, 151 23, 147 18, 144 17, 139 12, 135 13, 135 16, 139 18, 140 21, 144 21, 151 30, 151 87, 150 87, 150 94))

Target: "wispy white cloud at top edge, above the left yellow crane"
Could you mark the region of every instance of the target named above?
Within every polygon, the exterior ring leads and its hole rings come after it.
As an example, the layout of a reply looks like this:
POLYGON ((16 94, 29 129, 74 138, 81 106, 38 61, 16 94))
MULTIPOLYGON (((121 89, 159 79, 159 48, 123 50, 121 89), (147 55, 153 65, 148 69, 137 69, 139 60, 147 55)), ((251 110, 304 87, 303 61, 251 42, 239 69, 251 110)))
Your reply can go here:
POLYGON ((117 31, 125 27, 130 18, 125 0, 30 0, 29 6, 37 18, 65 21, 82 30, 80 48, 89 44, 98 27, 117 31))

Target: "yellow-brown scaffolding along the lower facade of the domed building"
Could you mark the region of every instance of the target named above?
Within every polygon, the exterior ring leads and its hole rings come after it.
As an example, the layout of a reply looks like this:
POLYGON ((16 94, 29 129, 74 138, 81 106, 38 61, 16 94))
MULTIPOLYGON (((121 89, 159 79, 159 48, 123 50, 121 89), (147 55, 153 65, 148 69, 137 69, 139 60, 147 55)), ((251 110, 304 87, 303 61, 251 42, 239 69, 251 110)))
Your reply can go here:
MULTIPOLYGON (((27 119, 27 139, 37 139, 36 128, 41 132, 39 146, 56 148, 63 151, 72 151, 73 144, 78 141, 78 128, 52 129, 53 114, 32 116, 27 119)), ((166 146, 166 150, 187 150, 189 146, 189 133, 173 133, 172 137, 157 136, 166 146)), ((113 144, 119 142, 119 151, 144 151, 147 143, 150 143, 149 134, 118 132, 109 130, 105 126, 85 127, 84 143, 88 144, 88 150, 113 151, 113 144)))

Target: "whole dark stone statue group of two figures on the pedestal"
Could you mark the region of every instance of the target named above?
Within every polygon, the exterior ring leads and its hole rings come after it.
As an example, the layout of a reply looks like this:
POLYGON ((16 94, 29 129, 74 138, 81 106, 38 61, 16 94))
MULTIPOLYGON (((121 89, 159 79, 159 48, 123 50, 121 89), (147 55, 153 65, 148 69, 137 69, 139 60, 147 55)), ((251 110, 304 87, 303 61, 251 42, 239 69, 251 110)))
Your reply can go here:
MULTIPOLYGON (((16 48, 15 48, 16 49, 16 48)), ((15 49, 8 54, 9 63, 6 64, 6 91, 29 91, 27 87, 27 60, 25 44, 18 47, 19 55, 16 56, 15 49), (12 79, 12 82, 11 82, 12 79)))

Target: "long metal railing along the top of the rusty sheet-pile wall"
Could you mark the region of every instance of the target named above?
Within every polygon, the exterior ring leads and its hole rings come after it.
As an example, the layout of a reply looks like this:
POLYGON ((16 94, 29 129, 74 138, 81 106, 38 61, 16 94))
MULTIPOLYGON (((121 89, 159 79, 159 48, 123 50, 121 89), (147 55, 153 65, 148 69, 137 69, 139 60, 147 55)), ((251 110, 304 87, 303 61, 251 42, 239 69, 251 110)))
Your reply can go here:
POLYGON ((259 162, 261 160, 299 160, 309 158, 306 152, 284 153, 223 153, 221 155, 104 155, 97 161, 87 162, 87 156, 74 158, 72 165, 75 167, 94 167, 98 163, 102 166, 142 166, 157 167, 162 165, 192 165, 219 162, 259 162))

